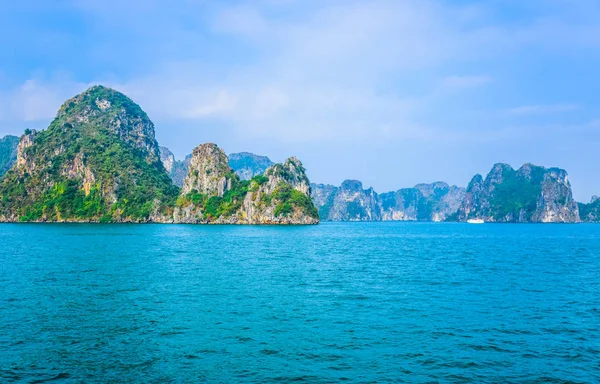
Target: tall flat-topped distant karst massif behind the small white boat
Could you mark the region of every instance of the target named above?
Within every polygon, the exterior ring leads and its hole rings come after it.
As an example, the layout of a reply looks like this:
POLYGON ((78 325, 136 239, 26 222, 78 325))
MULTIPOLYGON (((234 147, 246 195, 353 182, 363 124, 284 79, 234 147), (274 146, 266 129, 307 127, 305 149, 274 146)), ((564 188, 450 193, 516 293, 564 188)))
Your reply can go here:
POLYGON ((458 212, 459 220, 572 223, 579 221, 567 172, 525 164, 496 164, 485 180, 476 175, 458 212))

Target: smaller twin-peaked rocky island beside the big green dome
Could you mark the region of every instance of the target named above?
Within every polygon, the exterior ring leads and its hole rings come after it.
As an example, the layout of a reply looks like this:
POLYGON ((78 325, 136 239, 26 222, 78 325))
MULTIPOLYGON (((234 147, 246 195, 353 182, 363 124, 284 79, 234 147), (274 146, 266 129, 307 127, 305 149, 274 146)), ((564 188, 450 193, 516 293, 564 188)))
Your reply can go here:
POLYGON ((177 201, 177 223, 317 224, 302 163, 289 158, 264 175, 241 180, 214 144, 194 150, 190 170, 177 201))

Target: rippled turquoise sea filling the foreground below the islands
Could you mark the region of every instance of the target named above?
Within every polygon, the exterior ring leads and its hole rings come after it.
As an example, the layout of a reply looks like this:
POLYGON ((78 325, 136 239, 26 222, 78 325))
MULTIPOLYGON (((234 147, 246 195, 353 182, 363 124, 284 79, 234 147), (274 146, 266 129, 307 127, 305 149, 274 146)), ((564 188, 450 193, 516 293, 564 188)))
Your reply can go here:
POLYGON ((600 382, 600 225, 0 225, 0 382, 600 382))

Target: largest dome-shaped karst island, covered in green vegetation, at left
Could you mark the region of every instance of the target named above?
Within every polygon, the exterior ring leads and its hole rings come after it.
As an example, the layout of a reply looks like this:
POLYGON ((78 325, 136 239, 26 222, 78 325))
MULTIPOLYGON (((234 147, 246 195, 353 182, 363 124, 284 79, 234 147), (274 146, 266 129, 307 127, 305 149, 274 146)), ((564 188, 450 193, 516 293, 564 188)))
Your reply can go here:
POLYGON ((67 100, 48 129, 21 138, 17 164, 0 182, 0 220, 161 220, 178 191, 158 153, 141 108, 92 87, 67 100))

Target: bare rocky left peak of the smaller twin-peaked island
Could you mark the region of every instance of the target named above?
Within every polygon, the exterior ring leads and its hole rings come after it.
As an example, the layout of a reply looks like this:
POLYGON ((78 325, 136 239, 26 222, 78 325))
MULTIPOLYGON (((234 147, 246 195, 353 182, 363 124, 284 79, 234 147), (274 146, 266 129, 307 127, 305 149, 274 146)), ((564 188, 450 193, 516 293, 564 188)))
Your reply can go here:
POLYGON ((192 152, 182 193, 196 191, 208 196, 223 196, 231 189, 235 177, 222 149, 213 143, 201 144, 192 152))

